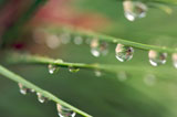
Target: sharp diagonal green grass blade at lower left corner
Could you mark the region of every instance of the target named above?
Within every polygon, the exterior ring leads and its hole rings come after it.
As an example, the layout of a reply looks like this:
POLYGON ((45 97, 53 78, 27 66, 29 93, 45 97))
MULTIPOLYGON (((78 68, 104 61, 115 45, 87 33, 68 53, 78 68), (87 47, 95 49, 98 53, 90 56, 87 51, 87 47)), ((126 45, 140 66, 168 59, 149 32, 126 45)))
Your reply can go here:
POLYGON ((65 107, 69 107, 70 109, 74 110, 75 113, 77 114, 81 114, 82 116, 84 117, 92 117, 91 115, 71 106, 70 104, 59 99, 56 96, 54 96, 53 94, 35 86, 34 84, 25 81, 24 78, 22 78, 21 76, 10 72, 9 70, 7 70, 6 67, 3 67, 2 65, 0 65, 0 74, 17 82, 17 83, 21 83, 23 86, 28 87, 28 88, 31 88, 31 89, 34 89, 35 92, 40 93, 41 95, 45 96, 46 98, 55 102, 56 104, 60 104, 62 106, 65 106, 65 107))

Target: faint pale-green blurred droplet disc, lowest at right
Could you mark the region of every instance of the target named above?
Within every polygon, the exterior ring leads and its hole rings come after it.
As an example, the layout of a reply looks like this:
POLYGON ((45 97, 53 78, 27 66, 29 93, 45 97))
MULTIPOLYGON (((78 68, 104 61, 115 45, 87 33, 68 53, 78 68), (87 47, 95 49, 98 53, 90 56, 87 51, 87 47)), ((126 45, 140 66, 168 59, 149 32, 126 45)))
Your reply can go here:
POLYGON ((147 74, 145 77, 144 77, 144 83, 148 86, 153 86, 155 85, 156 83, 156 76, 153 75, 153 74, 147 74))

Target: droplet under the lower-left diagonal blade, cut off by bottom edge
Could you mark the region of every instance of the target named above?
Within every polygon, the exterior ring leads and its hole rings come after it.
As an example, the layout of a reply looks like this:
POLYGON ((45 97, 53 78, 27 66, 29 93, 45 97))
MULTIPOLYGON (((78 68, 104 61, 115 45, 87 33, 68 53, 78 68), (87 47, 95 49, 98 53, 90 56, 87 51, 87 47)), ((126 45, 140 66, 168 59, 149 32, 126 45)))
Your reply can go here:
POLYGON ((60 117, 75 117, 76 115, 75 111, 60 104, 56 104, 56 109, 60 117))

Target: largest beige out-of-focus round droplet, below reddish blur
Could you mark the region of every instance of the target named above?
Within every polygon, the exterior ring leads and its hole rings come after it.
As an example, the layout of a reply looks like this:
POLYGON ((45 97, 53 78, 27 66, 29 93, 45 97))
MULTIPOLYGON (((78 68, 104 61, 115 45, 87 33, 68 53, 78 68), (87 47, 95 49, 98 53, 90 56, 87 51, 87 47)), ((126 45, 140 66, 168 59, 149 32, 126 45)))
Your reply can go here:
POLYGON ((58 35, 54 35, 54 34, 53 35, 49 35, 46 38, 46 40, 45 40, 45 43, 50 49, 56 49, 61 44, 58 35))

